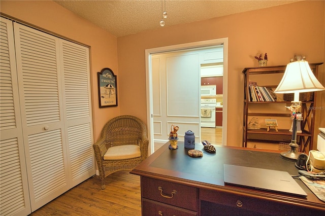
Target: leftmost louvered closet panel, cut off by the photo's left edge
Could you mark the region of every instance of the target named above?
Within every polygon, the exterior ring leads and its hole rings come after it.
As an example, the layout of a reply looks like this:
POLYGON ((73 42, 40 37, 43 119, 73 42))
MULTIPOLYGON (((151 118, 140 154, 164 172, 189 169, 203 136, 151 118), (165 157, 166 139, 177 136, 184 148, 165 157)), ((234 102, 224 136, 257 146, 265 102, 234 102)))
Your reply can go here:
POLYGON ((0 215, 31 212, 12 21, 0 18, 0 215))

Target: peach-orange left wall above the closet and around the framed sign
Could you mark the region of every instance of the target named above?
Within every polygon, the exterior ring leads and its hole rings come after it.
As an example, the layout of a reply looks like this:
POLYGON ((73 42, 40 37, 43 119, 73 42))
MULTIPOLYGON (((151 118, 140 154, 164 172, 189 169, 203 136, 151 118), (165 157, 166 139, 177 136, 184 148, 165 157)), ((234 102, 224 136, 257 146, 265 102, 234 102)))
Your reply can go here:
POLYGON ((120 81, 116 37, 52 1, 1 1, 1 13, 90 47, 93 128, 97 140, 104 124, 120 113, 120 106, 99 109, 97 84, 97 72, 104 67, 111 68, 117 82, 120 81))

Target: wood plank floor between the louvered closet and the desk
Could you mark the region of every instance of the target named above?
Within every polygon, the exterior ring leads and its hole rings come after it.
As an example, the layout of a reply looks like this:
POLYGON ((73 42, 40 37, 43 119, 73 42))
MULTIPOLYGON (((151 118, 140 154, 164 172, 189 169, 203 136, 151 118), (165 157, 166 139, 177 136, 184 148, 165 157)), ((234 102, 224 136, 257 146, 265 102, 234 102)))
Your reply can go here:
POLYGON ((30 215, 141 215, 140 176, 118 171, 105 184, 95 175, 30 215))

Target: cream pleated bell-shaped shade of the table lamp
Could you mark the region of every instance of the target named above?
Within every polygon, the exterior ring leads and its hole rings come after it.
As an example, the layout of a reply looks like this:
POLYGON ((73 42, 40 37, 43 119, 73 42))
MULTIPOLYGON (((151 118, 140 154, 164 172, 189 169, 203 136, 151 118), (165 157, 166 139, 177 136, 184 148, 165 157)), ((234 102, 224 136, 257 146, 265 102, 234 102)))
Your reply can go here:
MULTIPOLYGON (((274 92, 300 93, 322 90, 325 90, 325 88, 320 84, 315 75, 312 73, 308 61, 298 60, 290 62, 286 65, 282 80, 274 92)), ((297 101, 296 98, 295 101, 297 101)))

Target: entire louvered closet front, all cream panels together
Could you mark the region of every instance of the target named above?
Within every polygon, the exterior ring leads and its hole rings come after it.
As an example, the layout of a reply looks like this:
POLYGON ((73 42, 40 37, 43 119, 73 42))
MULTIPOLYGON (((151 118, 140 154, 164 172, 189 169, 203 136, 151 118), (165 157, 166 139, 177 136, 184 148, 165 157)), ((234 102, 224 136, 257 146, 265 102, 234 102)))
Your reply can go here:
POLYGON ((0 32, 0 215, 28 215, 95 174, 89 49, 2 17, 0 32))

